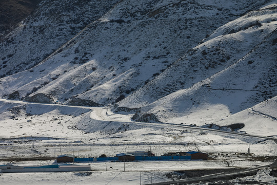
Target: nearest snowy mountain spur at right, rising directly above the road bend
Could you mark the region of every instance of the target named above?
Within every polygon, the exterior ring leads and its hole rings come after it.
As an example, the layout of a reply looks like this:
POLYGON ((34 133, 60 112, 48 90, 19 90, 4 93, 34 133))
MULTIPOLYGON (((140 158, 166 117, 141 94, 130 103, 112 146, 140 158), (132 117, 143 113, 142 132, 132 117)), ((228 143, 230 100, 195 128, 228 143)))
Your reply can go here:
POLYGON ((152 121, 201 126, 238 123, 242 120, 236 113, 248 113, 248 108, 266 101, 263 105, 269 113, 263 125, 276 122, 276 108, 270 111, 277 105, 275 8, 251 11, 215 30, 203 44, 118 105, 140 107, 135 120, 152 117, 152 121), (229 116, 233 119, 226 121, 229 116))

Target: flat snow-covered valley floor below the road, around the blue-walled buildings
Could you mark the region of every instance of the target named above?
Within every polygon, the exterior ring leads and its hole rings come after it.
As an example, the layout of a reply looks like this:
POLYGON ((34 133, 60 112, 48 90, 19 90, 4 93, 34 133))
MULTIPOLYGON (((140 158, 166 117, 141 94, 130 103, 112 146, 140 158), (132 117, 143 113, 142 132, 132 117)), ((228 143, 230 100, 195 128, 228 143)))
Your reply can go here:
MULTIPOLYGON (((125 171, 123 162, 109 161, 108 171, 105 162, 90 163, 91 174, 1 174, 1 184, 140 184, 140 181, 147 184, 151 179, 157 183, 187 178, 176 175, 179 171, 215 169, 216 173, 224 173, 226 169, 267 166, 277 155, 276 143, 264 138, 213 130, 201 133, 199 128, 174 124, 132 122, 132 115, 114 114, 110 109, 101 107, 1 101, 0 164, 46 165, 54 163, 53 158, 61 154, 78 157, 106 154, 112 157, 139 150, 151 150, 156 155, 180 151, 209 154, 207 161, 126 162, 125 171), (249 145, 251 155, 247 155, 249 145), (172 177, 171 173, 176 174, 172 177)), ((277 179, 270 177, 272 182, 277 179)), ((256 175, 253 176, 255 178, 256 175)))

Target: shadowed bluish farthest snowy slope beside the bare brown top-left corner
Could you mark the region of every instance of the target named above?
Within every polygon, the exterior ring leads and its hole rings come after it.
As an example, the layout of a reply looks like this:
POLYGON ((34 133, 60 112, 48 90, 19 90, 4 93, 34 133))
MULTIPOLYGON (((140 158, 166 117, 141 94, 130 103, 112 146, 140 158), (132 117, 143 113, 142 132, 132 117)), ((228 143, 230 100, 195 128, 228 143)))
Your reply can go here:
POLYGON ((116 3, 117 0, 42 1, 30 16, 2 38, 0 77, 42 62, 116 3))

